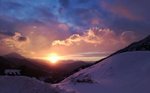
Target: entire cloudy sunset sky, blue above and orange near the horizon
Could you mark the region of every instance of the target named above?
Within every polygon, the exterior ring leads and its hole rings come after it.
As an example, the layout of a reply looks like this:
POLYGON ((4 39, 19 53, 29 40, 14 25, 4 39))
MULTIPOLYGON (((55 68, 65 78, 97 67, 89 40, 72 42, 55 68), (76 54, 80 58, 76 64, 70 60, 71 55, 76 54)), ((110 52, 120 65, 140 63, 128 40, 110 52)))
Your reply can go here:
POLYGON ((150 34, 149 0, 0 0, 0 55, 98 60, 150 34))

